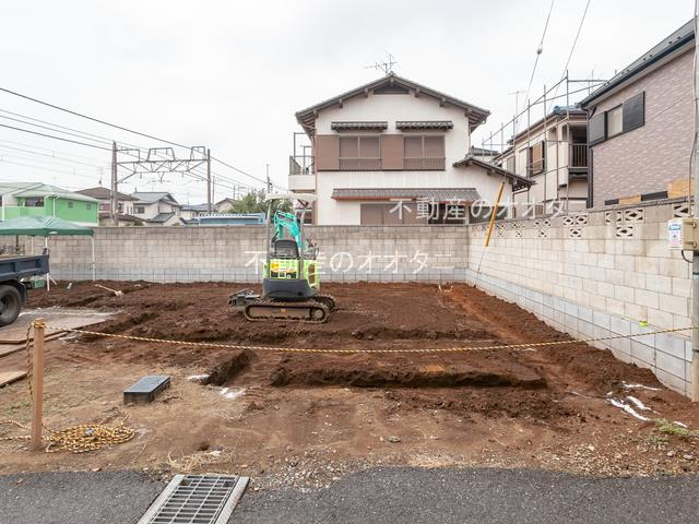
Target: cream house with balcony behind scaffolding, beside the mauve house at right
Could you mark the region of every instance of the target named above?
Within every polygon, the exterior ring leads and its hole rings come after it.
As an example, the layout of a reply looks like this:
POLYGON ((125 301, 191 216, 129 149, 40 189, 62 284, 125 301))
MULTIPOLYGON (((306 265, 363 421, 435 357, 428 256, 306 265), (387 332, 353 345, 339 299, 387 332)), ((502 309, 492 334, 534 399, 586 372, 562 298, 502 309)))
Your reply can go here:
POLYGON ((580 211, 588 206, 588 114, 554 107, 510 139, 495 162, 535 182, 512 196, 516 216, 580 211))

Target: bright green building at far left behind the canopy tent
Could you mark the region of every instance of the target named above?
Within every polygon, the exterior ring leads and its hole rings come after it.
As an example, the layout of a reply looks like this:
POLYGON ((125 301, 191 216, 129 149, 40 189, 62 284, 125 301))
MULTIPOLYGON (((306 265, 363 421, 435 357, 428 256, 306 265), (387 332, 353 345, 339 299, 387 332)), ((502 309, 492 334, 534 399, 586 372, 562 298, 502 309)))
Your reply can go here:
POLYGON ((40 182, 0 182, 0 219, 57 216, 81 226, 97 226, 99 201, 40 182))

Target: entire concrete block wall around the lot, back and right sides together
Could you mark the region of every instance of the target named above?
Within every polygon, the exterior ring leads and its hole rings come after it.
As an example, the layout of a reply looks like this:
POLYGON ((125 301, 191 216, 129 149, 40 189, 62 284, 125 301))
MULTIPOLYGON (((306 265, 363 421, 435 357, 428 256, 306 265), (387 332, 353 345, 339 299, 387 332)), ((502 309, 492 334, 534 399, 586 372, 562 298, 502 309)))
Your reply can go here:
MULTIPOLYGON (((687 215, 686 202, 665 202, 508 221, 496 225, 487 250, 483 224, 309 226, 307 233, 320 249, 324 281, 469 282, 588 338, 690 325, 689 264, 666 248, 667 221, 687 215)), ((95 230, 96 276, 257 283, 264 245, 263 226, 104 227, 95 230)), ((49 246, 55 278, 92 277, 90 238, 51 238, 49 246)), ((597 346, 650 368, 663 383, 688 394, 686 335, 597 346)))

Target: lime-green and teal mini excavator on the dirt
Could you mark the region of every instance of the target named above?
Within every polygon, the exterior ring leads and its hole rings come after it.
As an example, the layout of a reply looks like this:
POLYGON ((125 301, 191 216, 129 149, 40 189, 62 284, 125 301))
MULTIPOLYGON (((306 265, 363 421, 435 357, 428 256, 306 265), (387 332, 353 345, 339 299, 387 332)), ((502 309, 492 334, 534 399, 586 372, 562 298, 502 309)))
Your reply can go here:
POLYGON ((268 194, 266 257, 262 270, 262 294, 240 289, 228 303, 250 321, 270 319, 325 322, 335 310, 335 300, 321 295, 318 249, 304 238, 306 206, 296 213, 275 211, 274 200, 300 200, 310 203, 316 195, 306 193, 268 194))

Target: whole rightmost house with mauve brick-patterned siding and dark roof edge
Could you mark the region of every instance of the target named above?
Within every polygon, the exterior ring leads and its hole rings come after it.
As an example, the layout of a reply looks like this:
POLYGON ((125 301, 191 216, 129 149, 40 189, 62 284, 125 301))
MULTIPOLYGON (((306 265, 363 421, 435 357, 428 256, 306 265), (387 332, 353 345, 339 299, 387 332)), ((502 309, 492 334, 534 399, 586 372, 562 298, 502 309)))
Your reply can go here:
POLYGON ((592 206, 688 193, 694 50, 690 21, 582 100, 592 206))

